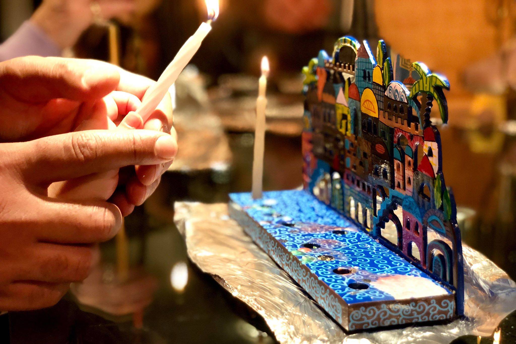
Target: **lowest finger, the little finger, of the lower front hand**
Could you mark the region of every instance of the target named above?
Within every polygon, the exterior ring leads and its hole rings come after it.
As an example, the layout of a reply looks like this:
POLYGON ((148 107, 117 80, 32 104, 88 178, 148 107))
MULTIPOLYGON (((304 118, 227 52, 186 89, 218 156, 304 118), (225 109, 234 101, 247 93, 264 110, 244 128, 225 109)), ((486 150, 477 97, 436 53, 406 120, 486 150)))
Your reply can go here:
POLYGON ((55 305, 69 288, 70 283, 13 282, 0 288, 0 308, 14 312, 50 307, 55 305))

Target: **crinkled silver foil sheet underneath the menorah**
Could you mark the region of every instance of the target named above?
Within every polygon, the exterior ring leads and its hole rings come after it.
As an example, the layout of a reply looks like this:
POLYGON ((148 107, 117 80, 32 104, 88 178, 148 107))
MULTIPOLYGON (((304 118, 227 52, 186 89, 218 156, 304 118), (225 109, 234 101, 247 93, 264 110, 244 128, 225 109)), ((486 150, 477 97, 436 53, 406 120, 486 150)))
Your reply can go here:
POLYGON ((516 283, 464 245, 465 319, 347 335, 229 218, 227 204, 176 203, 175 211, 193 263, 259 313, 282 343, 448 344, 462 335, 490 336, 516 309, 516 283))

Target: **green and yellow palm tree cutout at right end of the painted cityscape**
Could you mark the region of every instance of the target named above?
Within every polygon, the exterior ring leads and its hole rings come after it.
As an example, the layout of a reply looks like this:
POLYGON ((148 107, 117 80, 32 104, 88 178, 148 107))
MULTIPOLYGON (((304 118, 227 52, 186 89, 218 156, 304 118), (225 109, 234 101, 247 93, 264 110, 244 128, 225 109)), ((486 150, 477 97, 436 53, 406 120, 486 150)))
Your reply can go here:
POLYGON ((426 128, 431 124, 430 111, 432 110, 434 99, 439 106, 443 123, 448 122, 448 105, 443 92, 443 88, 446 90, 450 89, 448 80, 442 75, 430 72, 428 67, 422 62, 412 63, 412 68, 421 78, 412 86, 409 97, 415 99, 417 94, 420 93, 422 95, 421 114, 423 117, 423 127, 426 128))

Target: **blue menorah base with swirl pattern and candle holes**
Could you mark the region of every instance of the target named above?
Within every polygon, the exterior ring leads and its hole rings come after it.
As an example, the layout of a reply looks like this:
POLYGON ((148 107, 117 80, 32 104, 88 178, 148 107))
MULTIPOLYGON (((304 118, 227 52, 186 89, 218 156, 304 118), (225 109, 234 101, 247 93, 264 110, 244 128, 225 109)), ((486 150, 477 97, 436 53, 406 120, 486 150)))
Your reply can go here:
POLYGON ((230 215, 347 331, 455 317, 455 291, 301 190, 230 195, 230 215))

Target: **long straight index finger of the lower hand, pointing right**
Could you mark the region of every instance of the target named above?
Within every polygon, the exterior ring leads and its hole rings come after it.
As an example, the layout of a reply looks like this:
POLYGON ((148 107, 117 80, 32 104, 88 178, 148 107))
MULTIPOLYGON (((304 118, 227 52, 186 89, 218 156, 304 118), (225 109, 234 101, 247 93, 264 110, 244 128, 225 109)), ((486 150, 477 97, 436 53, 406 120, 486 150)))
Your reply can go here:
POLYGON ((171 135, 153 130, 84 130, 15 143, 9 148, 17 152, 23 176, 44 184, 129 165, 170 161, 177 143, 171 135))

